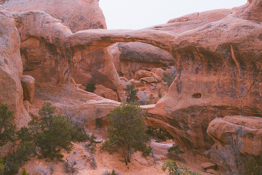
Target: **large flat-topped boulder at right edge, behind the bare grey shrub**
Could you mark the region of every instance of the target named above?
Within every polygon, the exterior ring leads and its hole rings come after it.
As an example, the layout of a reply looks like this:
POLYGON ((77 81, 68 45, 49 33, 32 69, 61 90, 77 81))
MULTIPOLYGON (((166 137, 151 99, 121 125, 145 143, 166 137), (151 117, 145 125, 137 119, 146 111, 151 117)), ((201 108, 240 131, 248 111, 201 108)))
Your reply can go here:
MULTIPOLYGON (((209 123, 207 133, 218 145, 226 144, 226 137, 234 134, 234 125, 242 126, 242 130, 247 134, 242 138, 244 148, 241 152, 244 155, 257 156, 262 151, 262 118, 261 117, 245 117, 225 116, 224 118, 215 118, 209 123)), ((212 158, 212 157, 211 157, 212 158)))

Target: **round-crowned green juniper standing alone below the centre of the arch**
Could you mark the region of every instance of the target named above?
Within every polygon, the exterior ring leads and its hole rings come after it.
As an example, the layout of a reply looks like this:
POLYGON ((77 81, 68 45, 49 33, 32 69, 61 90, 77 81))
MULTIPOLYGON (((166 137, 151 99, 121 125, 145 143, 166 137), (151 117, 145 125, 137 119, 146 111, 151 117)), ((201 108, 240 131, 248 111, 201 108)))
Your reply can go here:
POLYGON ((144 117, 144 111, 135 103, 122 103, 121 106, 111 110, 107 114, 109 140, 103 143, 103 148, 108 148, 109 153, 112 153, 118 146, 122 147, 126 165, 130 162, 130 155, 135 151, 142 150, 150 153, 150 149, 145 145, 150 138, 149 135, 144 134, 144 117))

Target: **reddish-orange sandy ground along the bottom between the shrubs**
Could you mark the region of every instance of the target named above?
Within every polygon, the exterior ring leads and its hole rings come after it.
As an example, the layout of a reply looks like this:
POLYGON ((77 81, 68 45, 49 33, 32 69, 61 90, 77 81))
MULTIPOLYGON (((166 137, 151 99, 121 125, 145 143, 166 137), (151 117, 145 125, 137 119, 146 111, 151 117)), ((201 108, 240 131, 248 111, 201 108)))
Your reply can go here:
MULTIPOLYGON (((83 145, 83 144, 82 144, 83 145)), ((81 174, 84 175, 101 175, 103 171, 105 170, 112 170, 113 168, 120 172, 122 175, 165 175, 168 174, 168 172, 164 172, 161 170, 161 166, 163 164, 162 161, 158 161, 159 163, 156 164, 156 168, 154 165, 151 165, 153 162, 149 162, 148 165, 143 165, 139 162, 137 162, 134 159, 134 155, 131 157, 131 163, 128 164, 128 166, 125 165, 125 160, 122 154, 115 152, 113 155, 108 154, 106 150, 101 150, 101 143, 97 144, 95 147, 95 153, 93 154, 95 157, 95 160, 97 162, 96 169, 93 169, 91 167, 91 156, 86 151, 84 146, 80 144, 74 144, 74 148, 70 154, 63 153, 65 157, 72 156, 74 153, 77 154, 76 159, 79 160, 78 164, 84 168, 81 172, 81 174), (151 165, 151 166, 150 166, 151 165)), ((153 160, 153 158, 150 158, 153 160)), ((194 164, 186 164, 187 167, 190 167, 191 170, 197 170, 201 172, 201 166, 200 165, 194 165, 194 164)), ((49 167, 54 168, 54 172, 52 174, 54 175, 66 175, 64 168, 63 168, 63 162, 46 162, 45 159, 38 159, 37 157, 33 157, 29 162, 26 162, 24 166, 26 170, 30 171, 34 168, 43 169, 45 171, 48 171, 49 167)), ((20 169, 20 172, 22 171, 22 168, 20 169)), ((210 175, 208 173, 201 172, 203 175, 210 175)), ((41 174, 37 174, 41 175, 41 174)), ((47 174, 49 175, 49 174, 47 174)))

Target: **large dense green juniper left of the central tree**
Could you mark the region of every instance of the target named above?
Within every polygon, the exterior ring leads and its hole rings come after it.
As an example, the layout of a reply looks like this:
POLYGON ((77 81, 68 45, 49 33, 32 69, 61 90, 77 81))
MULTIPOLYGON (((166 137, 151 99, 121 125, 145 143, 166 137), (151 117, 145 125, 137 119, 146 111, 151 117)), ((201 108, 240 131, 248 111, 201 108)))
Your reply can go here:
POLYGON ((28 128, 22 127, 18 134, 22 142, 34 143, 40 147, 40 153, 51 160, 63 158, 61 149, 71 151, 71 132, 74 129, 68 118, 56 112, 51 103, 44 103, 38 112, 41 117, 31 120, 28 128))

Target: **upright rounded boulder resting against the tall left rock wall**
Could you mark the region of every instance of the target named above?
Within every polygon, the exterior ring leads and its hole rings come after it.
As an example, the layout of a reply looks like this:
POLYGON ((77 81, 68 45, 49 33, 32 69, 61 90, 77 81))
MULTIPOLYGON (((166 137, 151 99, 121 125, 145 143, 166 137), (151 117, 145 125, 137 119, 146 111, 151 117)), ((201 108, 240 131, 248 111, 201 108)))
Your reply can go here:
POLYGON ((35 79, 29 75, 23 75, 21 78, 24 100, 32 103, 35 95, 35 79))

